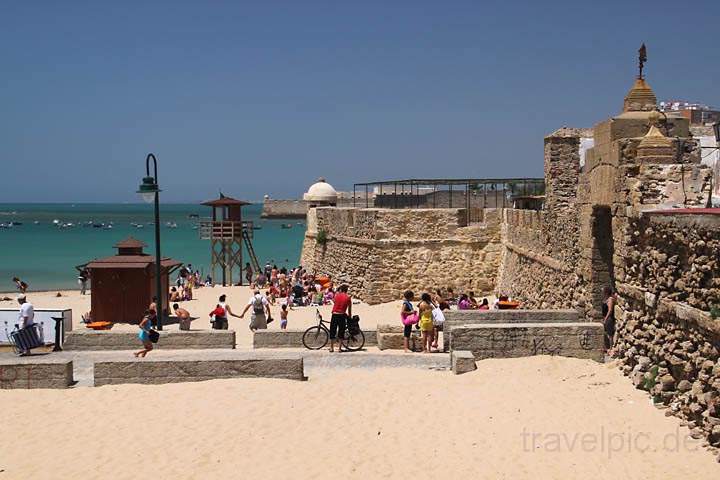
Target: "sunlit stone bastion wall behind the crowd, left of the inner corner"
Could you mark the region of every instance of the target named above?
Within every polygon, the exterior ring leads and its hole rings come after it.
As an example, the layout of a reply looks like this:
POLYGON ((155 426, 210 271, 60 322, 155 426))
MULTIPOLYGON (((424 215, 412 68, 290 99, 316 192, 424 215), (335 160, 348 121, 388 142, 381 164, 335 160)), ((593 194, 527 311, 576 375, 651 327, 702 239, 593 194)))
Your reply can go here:
POLYGON ((311 209, 301 263, 347 282, 368 303, 397 300, 407 289, 492 293, 500 212, 485 210, 480 224, 465 221, 463 209, 311 209))

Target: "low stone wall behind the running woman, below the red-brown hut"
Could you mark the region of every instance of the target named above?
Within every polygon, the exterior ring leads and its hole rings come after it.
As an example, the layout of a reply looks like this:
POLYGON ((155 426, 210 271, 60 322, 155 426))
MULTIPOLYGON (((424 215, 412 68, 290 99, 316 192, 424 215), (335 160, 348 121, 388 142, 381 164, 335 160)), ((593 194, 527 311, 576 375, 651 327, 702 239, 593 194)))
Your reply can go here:
MULTIPOLYGON (((132 350, 142 345, 137 331, 112 330, 73 330, 65 337, 64 350, 132 350)), ((155 344, 162 350, 194 349, 233 349, 235 331, 233 330, 187 330, 160 332, 160 340, 155 344)))

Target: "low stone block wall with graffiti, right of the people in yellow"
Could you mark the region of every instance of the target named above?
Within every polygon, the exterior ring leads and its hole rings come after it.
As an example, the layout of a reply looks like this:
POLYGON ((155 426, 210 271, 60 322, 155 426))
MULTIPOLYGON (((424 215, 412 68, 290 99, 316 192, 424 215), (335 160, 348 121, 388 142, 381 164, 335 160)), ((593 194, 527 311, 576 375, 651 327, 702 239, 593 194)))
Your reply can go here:
POLYGON ((603 362, 603 335, 598 322, 462 325, 453 328, 450 349, 469 350, 476 360, 562 355, 603 362))

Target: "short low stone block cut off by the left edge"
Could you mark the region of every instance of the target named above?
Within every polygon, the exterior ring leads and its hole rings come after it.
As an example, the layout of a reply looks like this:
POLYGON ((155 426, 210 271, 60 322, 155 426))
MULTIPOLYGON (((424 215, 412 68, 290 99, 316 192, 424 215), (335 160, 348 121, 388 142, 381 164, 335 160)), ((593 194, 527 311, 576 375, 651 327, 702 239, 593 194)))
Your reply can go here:
POLYGON ((0 354, 0 389, 68 388, 73 384, 73 362, 52 354, 17 357, 0 354))

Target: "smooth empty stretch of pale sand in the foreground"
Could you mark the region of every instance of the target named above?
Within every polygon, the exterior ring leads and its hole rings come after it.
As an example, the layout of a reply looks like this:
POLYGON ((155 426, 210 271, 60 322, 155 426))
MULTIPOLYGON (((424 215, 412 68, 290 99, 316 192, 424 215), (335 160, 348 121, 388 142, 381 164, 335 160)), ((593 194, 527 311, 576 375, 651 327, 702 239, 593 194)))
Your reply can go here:
POLYGON ((3 479, 717 479, 714 456, 614 365, 479 362, 462 376, 327 370, 7 391, 3 479))

